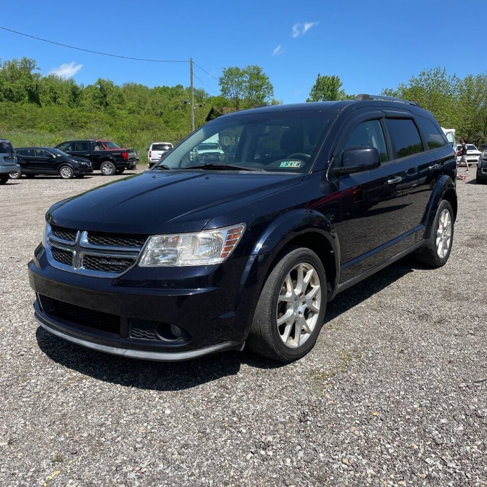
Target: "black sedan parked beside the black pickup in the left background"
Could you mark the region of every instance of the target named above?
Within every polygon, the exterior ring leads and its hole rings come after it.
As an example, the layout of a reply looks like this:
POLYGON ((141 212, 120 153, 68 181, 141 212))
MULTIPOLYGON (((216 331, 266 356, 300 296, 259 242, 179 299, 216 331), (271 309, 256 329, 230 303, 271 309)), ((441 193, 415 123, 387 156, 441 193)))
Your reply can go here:
POLYGON ((53 147, 20 147, 16 149, 19 169, 10 171, 10 179, 41 175, 59 175, 62 179, 83 178, 91 174, 91 161, 75 157, 53 147))

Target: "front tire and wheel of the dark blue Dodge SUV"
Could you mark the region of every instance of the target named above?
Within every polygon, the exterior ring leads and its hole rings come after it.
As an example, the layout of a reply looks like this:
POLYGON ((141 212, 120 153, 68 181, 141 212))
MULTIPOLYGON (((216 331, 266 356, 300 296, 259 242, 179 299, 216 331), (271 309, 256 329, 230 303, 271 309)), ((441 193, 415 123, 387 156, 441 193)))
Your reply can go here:
POLYGON ((306 355, 315 345, 325 320, 326 287, 325 269, 319 257, 306 248, 288 248, 262 288, 247 338, 250 349, 279 362, 292 362, 306 355), (309 284, 293 299, 300 287, 299 268, 309 284), (310 271, 313 272, 308 276, 310 271), (289 318, 282 321, 286 315, 289 318))

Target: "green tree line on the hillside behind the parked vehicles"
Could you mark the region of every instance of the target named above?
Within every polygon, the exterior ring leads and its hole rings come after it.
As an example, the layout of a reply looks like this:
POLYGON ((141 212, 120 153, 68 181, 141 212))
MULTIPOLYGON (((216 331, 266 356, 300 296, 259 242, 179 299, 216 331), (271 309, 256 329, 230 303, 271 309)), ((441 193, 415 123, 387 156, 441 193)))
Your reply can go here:
MULTIPOLYGON (((220 93, 211 96, 195 89, 195 125, 205 123, 210 109, 217 115, 280 103, 274 98, 269 77, 260 66, 223 68, 220 93)), ((413 76, 406 84, 385 89, 384 95, 418 102, 438 122, 456 128, 471 142, 487 138, 487 75, 464 79, 433 68, 413 76)), ((318 75, 306 101, 353 98, 342 89, 338 76, 318 75)), ((72 78, 42 76, 34 59, 0 61, 0 137, 15 146, 52 146, 69 138, 109 138, 132 147, 145 157, 151 142, 182 140, 191 130, 191 113, 183 103, 190 89, 183 85, 116 85, 99 78, 84 86, 72 78)))

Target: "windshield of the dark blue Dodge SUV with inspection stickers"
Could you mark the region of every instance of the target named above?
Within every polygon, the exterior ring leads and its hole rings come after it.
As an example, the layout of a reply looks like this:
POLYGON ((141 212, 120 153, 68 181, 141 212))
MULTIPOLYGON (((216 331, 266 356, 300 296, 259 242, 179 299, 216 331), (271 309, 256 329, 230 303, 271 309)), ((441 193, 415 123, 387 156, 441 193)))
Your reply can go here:
POLYGON ((218 163, 306 173, 328 127, 328 115, 318 111, 269 111, 222 117, 196 130, 155 167, 164 164, 166 168, 183 169, 218 163))

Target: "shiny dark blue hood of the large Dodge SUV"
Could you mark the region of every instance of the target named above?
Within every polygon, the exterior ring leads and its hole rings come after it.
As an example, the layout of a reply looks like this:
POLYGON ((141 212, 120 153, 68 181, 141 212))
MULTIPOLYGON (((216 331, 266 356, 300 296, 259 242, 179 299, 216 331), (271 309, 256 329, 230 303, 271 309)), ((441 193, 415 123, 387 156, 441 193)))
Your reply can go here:
POLYGON ((55 203, 48 218, 78 230, 200 231, 212 218, 289 188, 302 178, 301 174, 152 170, 55 203))

